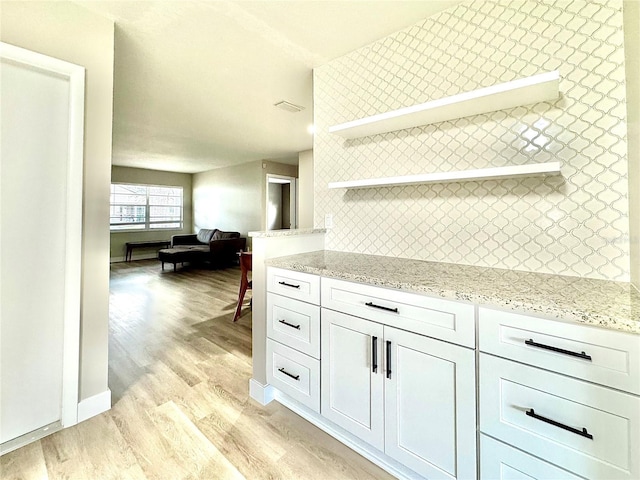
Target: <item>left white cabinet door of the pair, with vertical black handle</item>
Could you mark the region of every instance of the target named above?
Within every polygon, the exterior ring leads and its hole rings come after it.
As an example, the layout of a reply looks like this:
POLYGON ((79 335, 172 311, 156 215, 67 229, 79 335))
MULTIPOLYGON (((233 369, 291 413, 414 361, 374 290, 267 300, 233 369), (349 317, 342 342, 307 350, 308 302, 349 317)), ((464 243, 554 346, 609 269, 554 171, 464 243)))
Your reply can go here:
POLYGON ((383 450, 382 325, 322 309, 321 332, 321 414, 383 450))

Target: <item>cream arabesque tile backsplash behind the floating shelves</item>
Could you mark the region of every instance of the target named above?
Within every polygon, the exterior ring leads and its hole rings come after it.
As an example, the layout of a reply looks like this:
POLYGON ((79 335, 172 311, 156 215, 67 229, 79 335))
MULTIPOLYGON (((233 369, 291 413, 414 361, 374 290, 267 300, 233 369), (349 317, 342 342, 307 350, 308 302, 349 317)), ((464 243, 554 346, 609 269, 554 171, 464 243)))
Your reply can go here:
POLYGON ((464 3, 317 68, 314 95, 327 249, 629 280, 621 1, 464 3), (327 131, 550 70, 554 102, 354 140, 327 131), (554 160, 561 177, 327 188, 554 160))

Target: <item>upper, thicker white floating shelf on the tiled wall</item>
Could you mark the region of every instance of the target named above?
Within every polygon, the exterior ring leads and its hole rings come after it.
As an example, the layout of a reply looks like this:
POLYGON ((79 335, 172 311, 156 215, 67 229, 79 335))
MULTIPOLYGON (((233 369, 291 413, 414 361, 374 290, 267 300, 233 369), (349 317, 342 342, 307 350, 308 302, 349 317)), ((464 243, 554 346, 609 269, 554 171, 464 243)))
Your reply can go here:
POLYGON ((329 132, 344 138, 359 138, 555 100, 560 94, 559 83, 560 73, 554 70, 341 123, 329 127, 329 132))

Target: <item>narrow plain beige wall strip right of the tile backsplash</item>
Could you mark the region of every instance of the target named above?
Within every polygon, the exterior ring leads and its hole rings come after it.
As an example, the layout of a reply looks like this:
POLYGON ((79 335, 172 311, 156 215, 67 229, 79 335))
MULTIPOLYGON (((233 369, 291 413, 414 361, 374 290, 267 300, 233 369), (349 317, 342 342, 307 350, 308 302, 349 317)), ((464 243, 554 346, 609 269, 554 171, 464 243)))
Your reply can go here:
POLYGON ((640 290, 640 3, 624 2, 631 282, 640 290))

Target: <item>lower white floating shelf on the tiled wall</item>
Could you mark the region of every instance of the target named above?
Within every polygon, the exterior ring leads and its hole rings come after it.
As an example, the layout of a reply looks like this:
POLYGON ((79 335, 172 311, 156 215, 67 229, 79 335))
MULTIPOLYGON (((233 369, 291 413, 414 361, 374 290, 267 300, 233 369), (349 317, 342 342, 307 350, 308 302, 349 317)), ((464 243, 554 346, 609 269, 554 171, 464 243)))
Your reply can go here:
POLYGON ((473 180, 491 180, 516 177, 539 177, 560 175, 560 162, 532 163, 508 167, 459 170, 456 172, 425 173, 403 177, 370 178, 348 182, 330 182, 329 188, 371 188, 419 185, 423 183, 465 182, 473 180))

